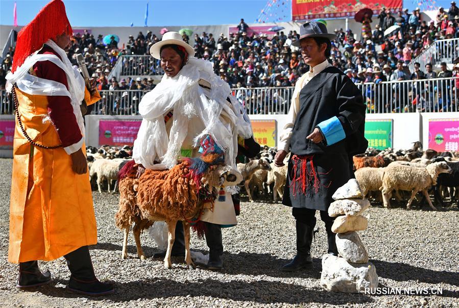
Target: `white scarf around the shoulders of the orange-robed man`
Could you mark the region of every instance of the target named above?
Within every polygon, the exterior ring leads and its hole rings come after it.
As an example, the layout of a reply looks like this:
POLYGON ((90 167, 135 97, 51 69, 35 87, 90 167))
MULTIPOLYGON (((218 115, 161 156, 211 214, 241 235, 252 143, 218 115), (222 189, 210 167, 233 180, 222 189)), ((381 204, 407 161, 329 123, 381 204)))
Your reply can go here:
POLYGON ((48 40, 45 44, 53 48, 54 51, 60 56, 60 59, 55 55, 40 55, 38 54, 39 50, 37 50, 34 54, 28 57, 21 66, 16 69, 14 74, 9 72, 6 75, 7 91, 11 92, 13 85, 16 84, 19 90, 30 95, 70 97, 70 102, 77 119, 78 127, 80 128, 81 135, 84 137, 84 121, 80 110, 81 102, 84 99, 84 79, 81 76, 79 70, 73 68, 70 60, 67 58, 64 49, 60 48, 52 40, 48 40), (31 75, 29 73, 29 69, 38 61, 51 61, 59 66, 67 76, 68 90, 65 85, 59 82, 31 75))

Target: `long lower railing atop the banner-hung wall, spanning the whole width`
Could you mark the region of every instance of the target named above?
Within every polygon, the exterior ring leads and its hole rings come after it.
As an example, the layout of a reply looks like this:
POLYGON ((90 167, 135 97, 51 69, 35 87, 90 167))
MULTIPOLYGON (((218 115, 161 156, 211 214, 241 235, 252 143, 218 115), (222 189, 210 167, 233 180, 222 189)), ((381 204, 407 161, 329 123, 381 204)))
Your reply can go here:
MULTIPOLYGON (((437 78, 357 84, 367 113, 457 112, 459 78, 437 78), (457 86, 456 86, 457 85, 457 86)), ((294 87, 237 88, 231 94, 250 114, 287 114, 294 87)), ((136 115, 146 90, 104 90, 91 114, 136 115)), ((0 91, 0 114, 12 114, 11 96, 0 91)))

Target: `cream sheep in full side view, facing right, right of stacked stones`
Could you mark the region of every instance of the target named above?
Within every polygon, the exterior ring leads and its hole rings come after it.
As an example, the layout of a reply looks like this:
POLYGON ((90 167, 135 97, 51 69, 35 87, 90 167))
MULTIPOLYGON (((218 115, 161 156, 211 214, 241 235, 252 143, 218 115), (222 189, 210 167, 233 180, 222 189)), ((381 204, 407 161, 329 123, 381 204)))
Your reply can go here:
POLYGON ((387 167, 382 177, 382 199, 384 207, 390 208, 390 198, 394 189, 412 191, 411 197, 406 204, 406 209, 409 210, 411 202, 416 194, 420 191, 424 193, 429 206, 437 211, 430 200, 427 190, 432 185, 437 185, 437 178, 440 173, 449 173, 451 168, 445 162, 438 162, 427 165, 424 168, 417 168, 407 165, 398 165, 387 167))

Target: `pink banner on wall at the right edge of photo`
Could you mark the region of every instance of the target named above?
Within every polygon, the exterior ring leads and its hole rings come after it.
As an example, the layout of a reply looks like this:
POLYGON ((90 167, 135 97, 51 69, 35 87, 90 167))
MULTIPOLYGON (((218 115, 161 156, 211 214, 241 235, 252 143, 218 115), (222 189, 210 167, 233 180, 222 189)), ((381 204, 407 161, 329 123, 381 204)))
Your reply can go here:
POLYGON ((429 119, 429 148, 439 152, 459 150, 459 118, 429 119))

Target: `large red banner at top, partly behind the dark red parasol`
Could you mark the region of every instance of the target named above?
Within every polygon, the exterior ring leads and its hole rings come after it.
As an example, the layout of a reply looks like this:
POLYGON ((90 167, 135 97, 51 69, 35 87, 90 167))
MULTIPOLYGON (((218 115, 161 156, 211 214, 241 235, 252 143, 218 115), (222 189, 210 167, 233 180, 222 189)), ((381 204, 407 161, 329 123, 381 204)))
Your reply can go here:
POLYGON ((292 19, 354 18, 355 13, 365 8, 373 10, 373 15, 377 15, 382 7, 395 13, 402 8, 402 0, 383 3, 377 0, 292 0, 292 19))

